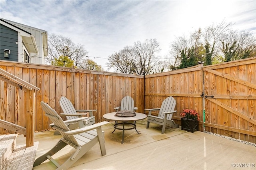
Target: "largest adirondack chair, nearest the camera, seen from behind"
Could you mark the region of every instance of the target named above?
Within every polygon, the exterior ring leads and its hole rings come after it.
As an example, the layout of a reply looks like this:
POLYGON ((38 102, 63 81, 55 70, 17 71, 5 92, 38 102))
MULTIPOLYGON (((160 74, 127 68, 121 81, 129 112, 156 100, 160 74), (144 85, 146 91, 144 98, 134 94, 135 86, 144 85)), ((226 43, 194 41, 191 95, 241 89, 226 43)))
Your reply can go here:
POLYGON ((103 121, 94 125, 70 131, 66 123, 64 123, 64 121, 54 109, 52 109, 50 106, 48 106, 48 104, 44 102, 41 102, 40 104, 42 106, 42 109, 45 111, 45 115, 49 117, 50 120, 53 122, 53 127, 60 131, 62 138, 51 150, 49 150, 42 156, 39 156, 35 160, 34 166, 38 166, 46 159, 49 159, 57 167, 57 170, 68 169, 98 142, 100 144, 101 155, 106 155, 104 134, 102 132, 101 126, 106 125, 108 122, 103 121), (64 148, 66 145, 70 145, 71 147, 76 149, 76 151, 62 165, 60 165, 58 164, 58 162, 56 162, 56 160, 52 158, 52 155, 64 148))

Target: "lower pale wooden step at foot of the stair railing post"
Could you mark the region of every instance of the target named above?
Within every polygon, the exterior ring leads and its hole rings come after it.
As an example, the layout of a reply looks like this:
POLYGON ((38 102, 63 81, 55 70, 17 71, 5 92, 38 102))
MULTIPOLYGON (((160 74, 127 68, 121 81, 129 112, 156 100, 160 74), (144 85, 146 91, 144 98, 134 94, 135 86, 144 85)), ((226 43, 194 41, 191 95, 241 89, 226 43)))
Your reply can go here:
POLYGON ((38 142, 27 148, 26 145, 17 146, 2 170, 32 170, 37 148, 38 142))

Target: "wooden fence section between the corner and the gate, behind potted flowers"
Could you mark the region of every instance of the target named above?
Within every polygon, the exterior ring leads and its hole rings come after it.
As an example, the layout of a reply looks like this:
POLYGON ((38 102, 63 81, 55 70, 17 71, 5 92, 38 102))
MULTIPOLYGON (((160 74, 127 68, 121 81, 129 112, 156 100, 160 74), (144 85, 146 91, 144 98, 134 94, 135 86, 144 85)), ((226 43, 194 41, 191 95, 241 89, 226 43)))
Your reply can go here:
MULTIPOLYGON (((160 108, 167 96, 176 100, 176 110, 172 118, 180 124, 183 109, 194 109, 200 114, 202 131, 203 120, 203 64, 145 76, 145 108, 160 108)), ((157 113, 155 113, 157 114, 157 113)))

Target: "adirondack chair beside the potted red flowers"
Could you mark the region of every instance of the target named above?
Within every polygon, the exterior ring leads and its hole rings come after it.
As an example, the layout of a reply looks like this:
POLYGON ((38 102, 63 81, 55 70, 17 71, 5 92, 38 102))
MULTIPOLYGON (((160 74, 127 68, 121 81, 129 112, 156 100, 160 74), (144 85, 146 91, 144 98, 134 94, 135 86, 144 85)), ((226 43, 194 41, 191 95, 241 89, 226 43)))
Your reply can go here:
POLYGON ((175 99, 168 97, 162 102, 161 108, 145 109, 145 111, 149 111, 146 128, 148 129, 150 122, 162 125, 162 133, 165 131, 166 124, 179 127, 179 125, 172 120, 172 114, 177 112, 177 110, 174 110, 175 105, 175 99), (153 110, 159 110, 158 116, 151 115, 151 111, 153 110))

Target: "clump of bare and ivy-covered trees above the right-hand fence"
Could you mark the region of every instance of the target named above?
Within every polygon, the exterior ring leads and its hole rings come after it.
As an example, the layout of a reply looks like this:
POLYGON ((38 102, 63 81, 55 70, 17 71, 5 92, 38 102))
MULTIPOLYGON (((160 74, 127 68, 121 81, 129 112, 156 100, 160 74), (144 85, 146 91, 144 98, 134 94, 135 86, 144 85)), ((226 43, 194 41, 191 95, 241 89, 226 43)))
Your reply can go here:
POLYGON ((198 29, 189 38, 178 37, 170 46, 172 63, 168 68, 185 68, 204 61, 204 65, 254 57, 256 38, 250 31, 234 31, 231 23, 222 21, 198 29), (184 54, 186 57, 184 57, 184 54), (187 61, 188 60, 188 63, 187 61))

